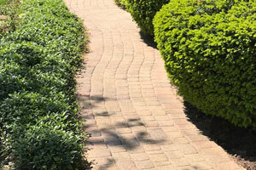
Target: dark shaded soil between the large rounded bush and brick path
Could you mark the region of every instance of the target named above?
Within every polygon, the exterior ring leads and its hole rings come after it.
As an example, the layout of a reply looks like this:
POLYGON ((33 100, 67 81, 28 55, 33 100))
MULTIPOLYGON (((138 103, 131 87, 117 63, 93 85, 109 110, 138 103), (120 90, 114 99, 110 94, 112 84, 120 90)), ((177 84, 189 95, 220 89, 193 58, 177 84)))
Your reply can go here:
POLYGON ((247 169, 256 169, 256 130, 235 127, 216 116, 207 116, 189 102, 184 102, 185 114, 209 139, 221 145, 224 150, 236 156, 247 169))

